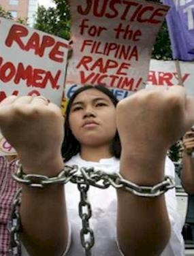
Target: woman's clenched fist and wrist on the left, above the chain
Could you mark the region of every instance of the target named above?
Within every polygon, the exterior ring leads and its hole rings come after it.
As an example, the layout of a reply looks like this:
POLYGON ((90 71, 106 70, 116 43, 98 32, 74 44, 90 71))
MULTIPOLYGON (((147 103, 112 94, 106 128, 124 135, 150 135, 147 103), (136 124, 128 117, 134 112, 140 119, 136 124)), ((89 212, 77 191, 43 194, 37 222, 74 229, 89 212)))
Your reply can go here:
POLYGON ((48 160, 51 165, 61 161, 63 116, 54 103, 43 97, 7 97, 0 103, 0 127, 16 148, 25 172, 42 172, 48 160))

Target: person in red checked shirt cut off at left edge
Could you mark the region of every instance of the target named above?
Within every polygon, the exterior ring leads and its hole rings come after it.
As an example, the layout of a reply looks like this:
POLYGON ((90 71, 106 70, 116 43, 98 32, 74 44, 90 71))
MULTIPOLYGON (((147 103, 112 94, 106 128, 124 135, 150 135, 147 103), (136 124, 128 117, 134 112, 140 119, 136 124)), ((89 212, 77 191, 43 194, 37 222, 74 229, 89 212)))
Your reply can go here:
POLYGON ((0 255, 8 256, 10 250, 10 231, 12 203, 19 184, 12 178, 17 155, 0 156, 0 255))

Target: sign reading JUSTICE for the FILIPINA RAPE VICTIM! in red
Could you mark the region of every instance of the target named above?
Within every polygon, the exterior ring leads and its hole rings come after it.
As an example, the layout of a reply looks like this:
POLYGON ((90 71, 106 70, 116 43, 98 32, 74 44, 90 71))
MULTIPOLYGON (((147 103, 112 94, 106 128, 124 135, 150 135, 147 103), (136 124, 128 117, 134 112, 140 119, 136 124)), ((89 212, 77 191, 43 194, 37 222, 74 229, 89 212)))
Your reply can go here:
POLYGON ((72 0, 67 91, 74 84, 106 84, 126 93, 143 88, 152 44, 167 10, 141 0, 72 0))

